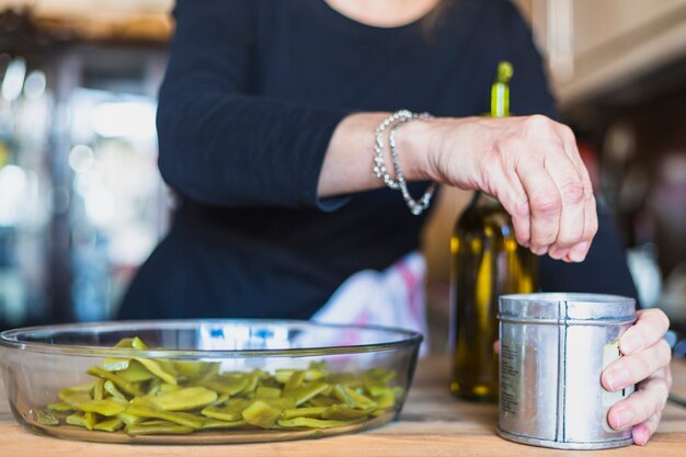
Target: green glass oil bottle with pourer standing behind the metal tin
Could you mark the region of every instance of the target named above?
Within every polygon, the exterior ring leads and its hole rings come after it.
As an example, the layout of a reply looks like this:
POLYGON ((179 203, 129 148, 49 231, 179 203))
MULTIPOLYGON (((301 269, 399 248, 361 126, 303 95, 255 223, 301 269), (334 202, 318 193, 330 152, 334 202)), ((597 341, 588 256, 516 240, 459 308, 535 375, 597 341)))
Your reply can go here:
MULTIPOLYGON (((491 116, 510 115, 510 62, 498 66, 491 89, 491 116)), ((512 218, 498 199, 477 192, 450 239, 450 390, 460 398, 498 400, 498 298, 535 292, 538 262, 521 247, 512 218)))

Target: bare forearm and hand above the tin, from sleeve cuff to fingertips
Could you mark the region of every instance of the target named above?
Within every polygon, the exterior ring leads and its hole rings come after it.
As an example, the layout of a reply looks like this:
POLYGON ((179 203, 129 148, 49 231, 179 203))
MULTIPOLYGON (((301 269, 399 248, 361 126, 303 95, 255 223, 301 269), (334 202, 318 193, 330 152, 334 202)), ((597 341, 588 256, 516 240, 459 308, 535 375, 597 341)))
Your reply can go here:
MULTIPOLYGON (((371 173, 370 140, 387 116, 356 113, 339 124, 319 175, 320 198, 382 185, 371 173)), ((409 181, 496 197, 512 215, 517 241, 534 253, 585 259, 598 221, 591 179, 569 127, 541 115, 414 121, 398 130, 398 156, 409 181)))

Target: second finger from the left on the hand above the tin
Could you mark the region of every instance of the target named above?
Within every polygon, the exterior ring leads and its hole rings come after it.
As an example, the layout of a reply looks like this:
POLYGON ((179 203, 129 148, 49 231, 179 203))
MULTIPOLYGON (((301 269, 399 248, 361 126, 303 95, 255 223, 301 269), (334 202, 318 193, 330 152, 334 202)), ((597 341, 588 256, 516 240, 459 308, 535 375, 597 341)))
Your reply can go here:
POLYGON ((535 158, 523 158, 517 162, 515 170, 528 201, 529 248, 535 254, 542 255, 558 238, 562 209, 560 193, 544 163, 535 158))

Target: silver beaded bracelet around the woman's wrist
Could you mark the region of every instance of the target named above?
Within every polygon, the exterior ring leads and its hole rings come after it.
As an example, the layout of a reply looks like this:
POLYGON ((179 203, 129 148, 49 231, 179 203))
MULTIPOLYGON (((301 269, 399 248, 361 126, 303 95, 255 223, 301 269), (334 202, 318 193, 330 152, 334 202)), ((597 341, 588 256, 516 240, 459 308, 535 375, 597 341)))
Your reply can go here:
POLYGON ((434 195, 436 190, 436 183, 432 183, 428 186, 428 190, 422 195, 419 199, 412 198, 410 195, 410 191, 408 190, 408 183, 404 180, 402 174, 402 169, 400 167, 400 161, 398 160, 398 148, 396 144, 396 134, 398 128, 411 121, 415 119, 428 119, 433 116, 428 113, 412 113, 408 110, 400 110, 385 118, 378 127, 376 127, 376 141, 374 144, 374 174, 384 181, 387 187, 392 188, 395 191, 400 191, 402 194, 402 198, 405 201, 408 208, 410 212, 419 216, 422 214, 428 205, 431 204, 431 198, 434 195), (393 172, 396 173, 396 179, 393 180, 390 173, 388 172, 388 168, 384 161, 384 132, 390 127, 390 133, 388 135, 388 145, 390 148, 391 160, 393 163, 393 172))

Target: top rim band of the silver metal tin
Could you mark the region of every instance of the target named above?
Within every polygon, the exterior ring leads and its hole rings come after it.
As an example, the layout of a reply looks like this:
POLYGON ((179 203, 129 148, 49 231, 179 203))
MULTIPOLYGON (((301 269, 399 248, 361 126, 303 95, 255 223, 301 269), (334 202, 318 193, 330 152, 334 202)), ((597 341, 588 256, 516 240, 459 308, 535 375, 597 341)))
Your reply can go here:
POLYGON ((501 321, 616 324, 636 320, 636 300, 619 295, 541 293, 500 297, 501 321))

